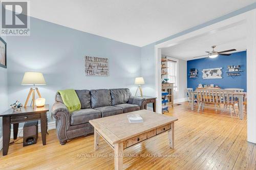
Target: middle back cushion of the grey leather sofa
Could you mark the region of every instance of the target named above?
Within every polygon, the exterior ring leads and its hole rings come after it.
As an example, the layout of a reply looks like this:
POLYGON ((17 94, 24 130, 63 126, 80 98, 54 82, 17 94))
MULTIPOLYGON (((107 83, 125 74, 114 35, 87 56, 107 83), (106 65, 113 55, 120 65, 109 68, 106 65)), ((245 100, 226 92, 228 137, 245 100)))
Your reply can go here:
POLYGON ((111 106, 112 99, 109 89, 91 90, 91 105, 92 108, 111 106))

